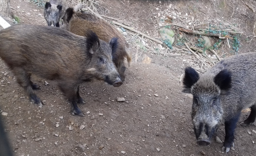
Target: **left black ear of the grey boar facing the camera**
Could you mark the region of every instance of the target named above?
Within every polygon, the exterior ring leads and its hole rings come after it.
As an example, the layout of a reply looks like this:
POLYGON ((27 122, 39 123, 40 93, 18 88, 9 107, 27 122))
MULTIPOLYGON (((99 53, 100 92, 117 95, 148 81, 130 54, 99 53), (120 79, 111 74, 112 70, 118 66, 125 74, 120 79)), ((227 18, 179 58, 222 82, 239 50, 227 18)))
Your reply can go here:
POLYGON ((192 67, 185 68, 185 75, 183 78, 183 93, 190 93, 190 89, 199 80, 199 74, 192 67))

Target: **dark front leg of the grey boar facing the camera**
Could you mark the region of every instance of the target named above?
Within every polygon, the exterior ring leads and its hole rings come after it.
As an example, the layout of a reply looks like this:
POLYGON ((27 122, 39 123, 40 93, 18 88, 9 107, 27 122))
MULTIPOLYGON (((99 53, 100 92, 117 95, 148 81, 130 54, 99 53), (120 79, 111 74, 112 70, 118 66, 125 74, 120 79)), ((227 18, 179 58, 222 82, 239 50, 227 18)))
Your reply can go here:
POLYGON ((236 123, 239 119, 240 114, 235 115, 233 118, 225 121, 225 141, 222 147, 222 151, 228 153, 231 146, 235 147, 234 145, 234 132, 236 128, 236 123))

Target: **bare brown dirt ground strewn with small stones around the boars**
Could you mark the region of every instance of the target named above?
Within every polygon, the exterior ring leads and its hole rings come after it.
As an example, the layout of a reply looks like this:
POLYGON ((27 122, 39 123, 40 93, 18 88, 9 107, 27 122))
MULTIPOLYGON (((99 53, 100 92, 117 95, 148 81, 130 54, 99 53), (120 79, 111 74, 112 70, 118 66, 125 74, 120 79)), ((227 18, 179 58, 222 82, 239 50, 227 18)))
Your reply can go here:
MULTIPOLYGON (((159 10, 166 10, 170 4, 174 11, 192 14, 195 19, 229 21, 244 32, 240 37, 239 52, 255 51, 255 13, 243 1, 101 2, 102 10, 99 13, 125 20, 131 27, 156 38, 160 36, 160 17, 157 14, 159 10), (252 40, 248 42, 246 38, 252 40)), ((245 2, 256 9, 254 1, 245 2)), ((28 0, 11 0, 11 7, 21 23, 46 25, 43 7, 37 7, 28 0)), ((131 47, 136 51, 133 43, 131 47)), ((144 64, 141 60, 135 63, 133 60, 126 70, 126 81, 122 86, 116 88, 95 81, 80 87, 80 95, 86 104, 78 106, 85 117, 71 115, 67 100, 54 82, 36 77, 33 77, 33 81, 42 86, 42 90, 36 91, 36 94, 45 100, 46 105, 39 108, 32 104, 16 83, 13 73, 1 60, 0 79, 3 82, 0 84, 0 106, 1 113, 8 113, 3 119, 14 155, 255 155, 256 144, 253 141, 256 142, 256 134, 248 134, 248 131, 256 130, 255 125, 241 127, 237 124, 235 150, 227 154, 221 152, 222 144, 216 143, 215 139, 212 139, 210 146, 197 145, 190 117, 192 98, 189 94, 181 93, 180 76, 188 65, 184 62, 186 56, 163 57, 143 53, 152 59, 151 63, 144 64), (45 85, 45 81, 48 85, 45 85), (117 102, 117 97, 124 97, 125 102, 117 102), (125 154, 121 151, 125 151, 125 154)), ((243 113, 238 123, 248 115, 249 112, 243 113)), ((223 125, 217 135, 224 140, 223 125)))

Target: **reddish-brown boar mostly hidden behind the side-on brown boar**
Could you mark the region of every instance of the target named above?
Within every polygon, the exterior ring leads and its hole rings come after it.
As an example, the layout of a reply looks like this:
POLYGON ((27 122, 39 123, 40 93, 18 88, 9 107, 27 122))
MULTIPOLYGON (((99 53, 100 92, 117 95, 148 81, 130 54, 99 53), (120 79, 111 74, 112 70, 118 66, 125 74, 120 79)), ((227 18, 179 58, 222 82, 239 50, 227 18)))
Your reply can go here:
POLYGON ((126 69, 124 59, 126 57, 127 62, 130 64, 132 54, 129 50, 129 44, 114 26, 97 18, 94 14, 75 12, 73 8, 68 8, 63 17, 61 28, 80 36, 86 36, 85 32, 90 29, 106 42, 109 42, 113 37, 117 37, 119 44, 116 53, 113 54, 113 62, 117 67, 121 80, 124 81, 124 71, 126 69))

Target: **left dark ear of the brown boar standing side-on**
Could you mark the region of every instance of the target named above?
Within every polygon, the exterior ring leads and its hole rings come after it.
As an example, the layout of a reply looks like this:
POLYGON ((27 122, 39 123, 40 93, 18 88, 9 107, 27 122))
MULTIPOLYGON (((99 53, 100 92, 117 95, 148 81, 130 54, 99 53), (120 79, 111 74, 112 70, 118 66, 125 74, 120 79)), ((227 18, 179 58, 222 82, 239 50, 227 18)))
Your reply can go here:
POLYGON ((91 57, 94 51, 100 46, 98 36, 91 30, 86 33, 86 50, 88 55, 91 57))

